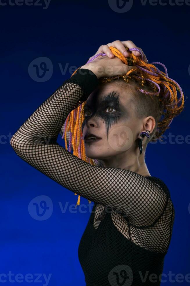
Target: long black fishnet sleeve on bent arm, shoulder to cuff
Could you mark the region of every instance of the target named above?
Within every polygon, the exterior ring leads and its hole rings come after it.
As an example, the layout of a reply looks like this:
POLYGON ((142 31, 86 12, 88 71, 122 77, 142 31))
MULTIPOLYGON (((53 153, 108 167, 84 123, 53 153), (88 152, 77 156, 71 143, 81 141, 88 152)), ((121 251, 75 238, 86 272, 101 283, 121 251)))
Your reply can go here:
POLYGON ((33 112, 10 144, 20 158, 70 191, 94 203, 109 205, 133 224, 151 225, 166 208, 165 189, 129 170, 91 165, 56 142, 68 114, 87 100, 99 84, 92 71, 80 71, 33 112))

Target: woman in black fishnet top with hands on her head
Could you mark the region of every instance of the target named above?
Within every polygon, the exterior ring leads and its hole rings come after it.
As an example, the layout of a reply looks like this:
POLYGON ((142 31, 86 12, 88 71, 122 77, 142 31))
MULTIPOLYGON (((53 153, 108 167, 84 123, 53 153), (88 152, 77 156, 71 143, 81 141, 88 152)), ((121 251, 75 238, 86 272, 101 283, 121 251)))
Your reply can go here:
POLYGON ((142 50, 139 53, 135 48, 131 41, 101 46, 95 59, 91 57, 71 79, 64 81, 10 142, 24 161, 94 201, 78 249, 87 286, 160 285, 171 240, 174 208, 170 192, 161 179, 151 177, 142 140, 146 147, 151 139, 162 135, 182 111, 183 94, 178 101, 177 83, 153 65, 148 66, 142 50), (114 55, 110 55, 111 50, 114 55), (129 66, 123 63, 126 60, 138 65, 129 66), (145 80, 145 67, 151 79, 158 81, 159 76, 159 84, 145 80), (107 78, 114 80, 107 82, 107 78), (171 90, 170 94, 167 90, 171 90), (85 152, 99 162, 98 166, 56 142, 71 111, 86 100, 82 122, 85 152), (181 106, 176 102, 182 102, 181 106), (164 109, 165 120, 158 122, 164 109), (88 139, 90 136, 95 138, 88 139))

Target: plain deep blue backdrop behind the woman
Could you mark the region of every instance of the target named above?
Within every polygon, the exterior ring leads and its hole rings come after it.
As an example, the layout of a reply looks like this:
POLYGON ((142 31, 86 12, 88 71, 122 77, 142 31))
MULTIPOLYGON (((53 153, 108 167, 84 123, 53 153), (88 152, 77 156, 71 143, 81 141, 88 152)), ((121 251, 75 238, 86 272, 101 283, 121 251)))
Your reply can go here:
MULTIPOLYGON (((35 2, 36 0, 34 0, 35 2)), ((176 0, 177 1, 177 0, 176 0)), ((87 225, 90 211, 76 209, 62 213, 60 203, 76 205, 78 196, 46 177, 19 158, 10 146, 10 138, 24 121, 60 84, 71 76, 69 67, 79 67, 94 55, 99 46, 114 40, 132 40, 141 47, 149 63, 166 65, 170 78, 184 92, 184 111, 173 119, 170 129, 173 143, 149 144, 146 163, 152 176, 161 178, 169 187, 175 207, 175 223, 163 273, 190 273, 189 263, 189 11, 179 2, 166 6, 142 5, 135 1, 125 13, 114 11, 108 1, 53 1, 49 7, 23 4, 0 5, 1 21, 1 235, 0 274, 33 275, 52 273, 49 286, 85 285, 78 260, 78 244, 87 225), (28 71, 38 57, 47 57, 53 65, 50 79, 38 82, 28 71), (61 73, 68 65, 67 72, 61 73), (177 135, 184 140, 177 143, 177 135), (33 218, 28 211, 30 201, 48 196, 51 215, 45 220, 33 218)), ((12 0, 12 3, 14 1, 12 0)), ((131 2, 132 3, 132 2, 131 2)), ((154 4, 156 2, 153 2, 154 4)), ((182 4, 182 2, 180 2, 182 4)), ((114 0, 112 1, 114 5, 114 0)), ((129 3, 127 4, 129 5, 129 3)), ((159 66, 158 66, 159 67, 159 66)), ((159 69, 162 69, 159 67, 159 69)), ((190 70, 190 69, 189 69, 190 70)), ((74 69, 73 69, 74 71, 74 69)), ((58 143, 64 146, 61 136, 58 143)), ((81 204, 88 200, 81 197, 81 204)), ((91 208, 90 208, 91 209, 91 208)), ((84 208, 83 208, 84 210, 84 208)), ((173 283, 177 285, 175 275, 173 283)), ((4 277, 2 277, 2 280, 4 277)), ((15 276, 12 277, 15 279, 15 276)), ((8 278, 7 278, 8 280, 8 278)), ((31 279, 30 279, 31 280, 31 279)), ((44 285, 44 278, 37 285, 44 285)), ((189 285, 185 282, 182 285, 189 285)), ((189 279, 190 280, 190 279, 189 279)), ((15 285, 29 285, 15 282, 15 285)), ((12 285, 6 282, 4 285, 12 285)))

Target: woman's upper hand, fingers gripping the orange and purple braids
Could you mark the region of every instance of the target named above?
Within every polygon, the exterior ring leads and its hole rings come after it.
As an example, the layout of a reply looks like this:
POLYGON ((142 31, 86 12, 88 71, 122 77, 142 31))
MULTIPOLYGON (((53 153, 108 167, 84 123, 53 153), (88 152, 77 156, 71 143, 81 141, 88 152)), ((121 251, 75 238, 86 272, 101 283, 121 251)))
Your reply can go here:
MULTIPOLYGON (((146 55, 143 53, 143 50, 137 46, 135 46, 135 44, 132 41, 114 41, 112 43, 108 43, 107 45, 102 45, 98 48, 97 52, 92 56, 94 57, 95 55, 99 54, 99 53, 105 53, 109 58, 114 58, 114 54, 112 53, 112 51, 109 49, 109 47, 114 47, 116 49, 118 49, 123 55, 124 57, 128 57, 129 53, 127 52, 126 48, 138 48, 139 50, 141 50, 142 54, 143 54, 143 59, 144 62, 148 63, 148 60, 146 58, 146 55)), ((138 51, 132 51, 132 53, 136 56, 139 57, 140 53, 138 51)), ((89 60, 92 59, 92 57, 89 58, 89 60)), ((88 61, 89 61, 88 60, 88 61)))

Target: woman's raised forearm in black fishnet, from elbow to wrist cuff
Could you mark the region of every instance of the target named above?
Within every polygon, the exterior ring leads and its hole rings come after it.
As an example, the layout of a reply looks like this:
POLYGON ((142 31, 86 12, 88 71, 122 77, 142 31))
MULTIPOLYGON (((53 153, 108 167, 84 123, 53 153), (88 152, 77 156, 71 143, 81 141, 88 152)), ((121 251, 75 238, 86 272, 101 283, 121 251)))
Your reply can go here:
POLYGON ((79 69, 21 125, 11 138, 13 149, 30 143, 55 144, 68 114, 87 100, 97 85, 92 71, 79 69))

